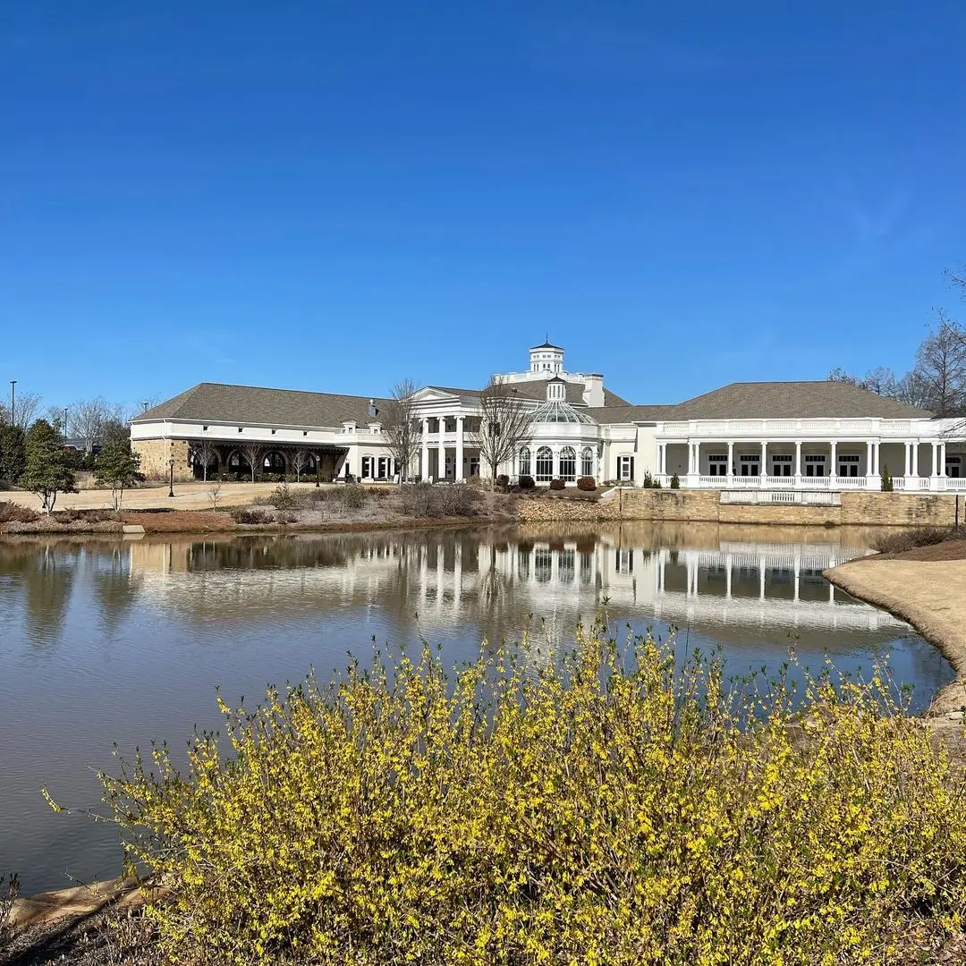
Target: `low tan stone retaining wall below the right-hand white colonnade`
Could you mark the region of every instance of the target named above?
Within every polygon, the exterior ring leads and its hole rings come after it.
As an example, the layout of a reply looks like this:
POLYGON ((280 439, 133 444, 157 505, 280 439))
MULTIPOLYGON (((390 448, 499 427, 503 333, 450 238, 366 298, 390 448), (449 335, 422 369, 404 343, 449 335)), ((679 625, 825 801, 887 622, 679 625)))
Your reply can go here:
MULTIPOLYGON (((722 503, 715 490, 621 490, 598 502, 565 497, 521 497, 528 523, 596 523, 653 520, 665 523, 771 524, 778 526, 950 526, 952 494, 843 493, 841 506, 800 503, 722 503)), ((960 522, 966 499, 960 501, 960 522)))

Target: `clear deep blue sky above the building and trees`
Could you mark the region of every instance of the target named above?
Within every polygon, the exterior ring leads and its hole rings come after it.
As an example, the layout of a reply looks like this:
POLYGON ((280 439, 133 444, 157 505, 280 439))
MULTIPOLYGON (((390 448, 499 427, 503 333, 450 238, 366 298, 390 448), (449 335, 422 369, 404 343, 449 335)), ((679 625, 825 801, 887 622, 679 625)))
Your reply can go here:
POLYGON ((0 383, 635 402, 904 369, 966 263, 966 5, 0 8, 0 383))

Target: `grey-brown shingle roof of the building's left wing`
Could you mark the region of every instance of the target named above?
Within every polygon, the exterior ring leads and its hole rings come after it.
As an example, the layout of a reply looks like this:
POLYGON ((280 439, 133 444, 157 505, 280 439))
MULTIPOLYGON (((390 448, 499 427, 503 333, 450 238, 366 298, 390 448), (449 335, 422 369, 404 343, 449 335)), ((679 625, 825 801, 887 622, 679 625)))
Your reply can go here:
MULTIPOLYGON (((378 420, 369 414, 369 396, 343 396, 332 392, 265 389, 254 385, 199 383, 132 422, 149 419, 195 419, 212 422, 269 423, 279 426, 341 426, 349 419, 365 424, 378 420)), ((384 410, 387 399, 376 399, 384 410)))

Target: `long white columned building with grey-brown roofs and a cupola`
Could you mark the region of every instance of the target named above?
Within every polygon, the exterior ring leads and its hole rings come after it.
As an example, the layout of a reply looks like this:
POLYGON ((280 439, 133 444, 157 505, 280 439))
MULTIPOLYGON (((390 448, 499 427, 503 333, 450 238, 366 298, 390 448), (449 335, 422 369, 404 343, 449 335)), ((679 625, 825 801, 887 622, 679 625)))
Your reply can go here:
MULTIPOLYGON (((966 491, 966 426, 935 419, 854 385, 833 382, 733 383, 682 403, 632 406, 599 373, 569 372, 564 350, 529 350, 526 371, 502 374, 532 407, 531 439, 511 478, 538 485, 581 476, 626 486, 748 494, 838 493, 879 489, 888 469, 896 490, 966 491)), ((459 482, 481 472, 479 390, 428 385, 413 397, 422 425, 423 479, 459 482)), ((198 384, 144 412, 131 440, 151 475, 209 472, 243 476, 300 470, 315 478, 386 480, 395 467, 380 413, 388 400, 291 389, 198 384)), ((747 497, 738 497, 747 498, 747 497)))

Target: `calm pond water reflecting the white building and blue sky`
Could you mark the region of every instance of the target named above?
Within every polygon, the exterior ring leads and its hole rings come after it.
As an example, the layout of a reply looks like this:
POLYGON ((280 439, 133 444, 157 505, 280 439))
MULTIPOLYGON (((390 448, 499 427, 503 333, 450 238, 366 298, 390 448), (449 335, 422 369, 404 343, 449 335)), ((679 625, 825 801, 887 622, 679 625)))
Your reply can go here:
POLYGON ((734 672, 777 668, 794 640, 816 667, 826 650, 848 669, 888 656, 920 708, 952 679, 907 625, 822 578, 866 553, 867 534, 769 536, 637 525, 0 543, 0 870, 18 869, 28 893, 117 874, 113 830, 46 810, 42 784, 94 807, 112 742, 177 748, 218 725, 215 685, 251 703, 270 682, 364 659, 373 640, 422 637, 460 661, 527 628, 548 655, 606 598, 614 625, 686 628, 734 672))

